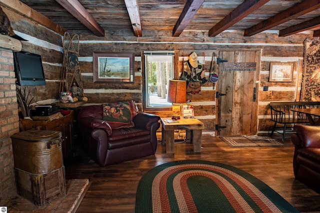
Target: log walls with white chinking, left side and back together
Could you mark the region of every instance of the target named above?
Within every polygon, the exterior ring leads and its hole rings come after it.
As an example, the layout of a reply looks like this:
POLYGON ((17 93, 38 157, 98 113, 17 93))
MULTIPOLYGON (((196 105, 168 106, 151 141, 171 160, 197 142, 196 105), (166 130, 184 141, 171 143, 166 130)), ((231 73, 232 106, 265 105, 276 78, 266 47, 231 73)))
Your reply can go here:
MULTIPOLYGON (((17 34, 28 41, 22 41, 22 50, 41 54, 45 69, 45 86, 36 86, 38 103, 56 101, 60 82, 62 63, 62 37, 34 22, 5 10, 10 17, 11 25, 17 34)), ((119 30, 106 31, 105 37, 86 35, 82 32, 69 32, 80 35, 79 62, 83 79, 87 104, 116 102, 133 99, 140 111, 142 108, 142 73, 141 52, 159 50, 178 50, 179 68, 183 60, 187 60, 191 52, 196 52, 198 60, 204 62, 206 76, 209 75, 211 56, 217 55, 218 49, 261 49, 260 84, 258 90, 258 133, 266 133, 271 129, 269 122, 270 101, 294 101, 299 99, 301 73, 303 64, 303 41, 311 39, 310 32, 297 33, 286 37, 278 37, 276 31, 266 31, 250 37, 244 37, 242 31, 225 31, 215 37, 208 37, 207 31, 186 31, 179 37, 172 37, 171 31, 143 31, 143 37, 132 36, 132 32, 119 30), (134 53, 134 83, 93 83, 92 52, 134 53), (205 56, 205 57, 203 57, 205 56), (269 82, 270 62, 292 62, 294 64, 292 82, 269 82), (268 91, 262 91, 268 86, 268 91)), ((195 117, 204 123, 204 134, 215 135, 215 88, 212 83, 202 85, 201 92, 188 95, 192 100, 195 117)), ((170 109, 150 111, 160 116, 170 116, 170 109)))

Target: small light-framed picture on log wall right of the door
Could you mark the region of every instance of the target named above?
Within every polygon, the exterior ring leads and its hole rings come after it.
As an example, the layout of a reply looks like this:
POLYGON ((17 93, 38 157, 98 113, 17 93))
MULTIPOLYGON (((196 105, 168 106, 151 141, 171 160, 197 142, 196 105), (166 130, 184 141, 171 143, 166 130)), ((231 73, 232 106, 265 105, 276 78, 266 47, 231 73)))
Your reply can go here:
POLYGON ((292 82, 293 63, 270 63, 269 82, 292 82))

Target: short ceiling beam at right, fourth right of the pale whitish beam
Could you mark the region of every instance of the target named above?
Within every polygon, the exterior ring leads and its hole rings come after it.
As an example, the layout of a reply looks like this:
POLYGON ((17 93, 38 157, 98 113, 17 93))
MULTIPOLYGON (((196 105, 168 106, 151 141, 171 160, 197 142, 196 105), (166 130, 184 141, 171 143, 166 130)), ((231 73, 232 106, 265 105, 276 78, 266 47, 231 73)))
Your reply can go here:
POLYGON ((289 26, 285 29, 281 29, 279 31, 279 36, 287 36, 287 35, 292 35, 298 32, 302 32, 304 30, 309 30, 315 27, 320 26, 320 16, 312 18, 311 20, 304 21, 302 23, 295 24, 293 26, 289 26))

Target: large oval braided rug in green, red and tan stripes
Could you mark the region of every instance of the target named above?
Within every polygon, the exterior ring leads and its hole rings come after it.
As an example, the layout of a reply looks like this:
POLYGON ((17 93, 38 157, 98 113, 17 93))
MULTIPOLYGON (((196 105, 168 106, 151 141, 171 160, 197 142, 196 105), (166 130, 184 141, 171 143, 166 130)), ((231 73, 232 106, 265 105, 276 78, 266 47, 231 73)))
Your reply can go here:
POLYGON ((221 163, 174 161, 142 176, 135 213, 186 212, 298 213, 260 180, 221 163))

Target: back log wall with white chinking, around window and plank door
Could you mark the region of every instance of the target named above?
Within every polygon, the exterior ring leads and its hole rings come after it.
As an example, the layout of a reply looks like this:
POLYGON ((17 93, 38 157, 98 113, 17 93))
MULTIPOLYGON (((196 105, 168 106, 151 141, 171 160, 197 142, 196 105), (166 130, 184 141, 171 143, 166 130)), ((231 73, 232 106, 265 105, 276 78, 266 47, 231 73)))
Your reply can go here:
MULTIPOLYGON (((128 33, 129 34, 129 33, 128 33)), ((261 49, 260 84, 258 90, 258 133, 267 133, 272 124, 269 122, 270 114, 268 104, 270 101, 295 101, 299 99, 301 73, 303 63, 303 41, 311 38, 307 32, 298 33, 287 37, 278 37, 276 31, 259 33, 251 37, 243 37, 241 31, 223 32, 216 37, 207 37, 206 32, 183 32, 179 37, 171 37, 170 32, 145 32, 138 39, 125 35, 125 31, 99 38, 95 36, 81 35, 80 64, 84 79, 85 95, 88 103, 101 103, 109 101, 133 99, 142 109, 142 79, 141 79, 141 52, 157 50, 178 50, 180 72, 183 60, 187 60, 191 52, 196 52, 198 60, 207 68, 206 76, 209 75, 211 56, 217 55, 218 49, 261 49), (156 34, 158 33, 158 34, 156 34), (93 83, 92 52, 133 52, 134 83, 93 83), (205 56, 203 58, 203 56, 205 56), (292 82, 269 82, 270 62, 292 62, 292 82), (262 91, 263 86, 268 86, 268 91, 262 91)), ((143 68, 141 69, 143 70, 143 68)), ((201 92, 188 95, 192 100, 195 117, 204 123, 204 134, 215 135, 215 87, 212 83, 204 84, 201 92)), ((170 116, 167 111, 151 111, 151 113, 166 117, 170 116)))

